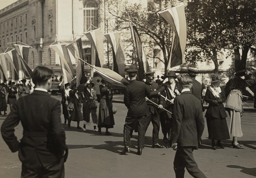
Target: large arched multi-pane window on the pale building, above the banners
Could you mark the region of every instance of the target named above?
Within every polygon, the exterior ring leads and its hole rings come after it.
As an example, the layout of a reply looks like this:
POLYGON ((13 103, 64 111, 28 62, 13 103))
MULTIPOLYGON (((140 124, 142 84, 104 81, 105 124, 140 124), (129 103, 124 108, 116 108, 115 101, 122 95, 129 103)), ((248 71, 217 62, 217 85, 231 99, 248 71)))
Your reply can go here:
POLYGON ((87 0, 83 4, 83 31, 85 32, 91 24, 98 27, 98 3, 95 0, 87 0))

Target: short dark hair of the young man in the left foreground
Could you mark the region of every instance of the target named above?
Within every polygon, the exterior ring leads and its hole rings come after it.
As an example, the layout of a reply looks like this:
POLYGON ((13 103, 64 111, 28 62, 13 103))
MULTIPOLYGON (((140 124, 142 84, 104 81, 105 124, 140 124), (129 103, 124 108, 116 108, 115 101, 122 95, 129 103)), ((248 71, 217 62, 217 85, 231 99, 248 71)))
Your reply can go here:
POLYGON ((33 71, 32 82, 35 83, 35 85, 43 84, 52 78, 53 74, 51 69, 44 66, 37 66, 33 71))

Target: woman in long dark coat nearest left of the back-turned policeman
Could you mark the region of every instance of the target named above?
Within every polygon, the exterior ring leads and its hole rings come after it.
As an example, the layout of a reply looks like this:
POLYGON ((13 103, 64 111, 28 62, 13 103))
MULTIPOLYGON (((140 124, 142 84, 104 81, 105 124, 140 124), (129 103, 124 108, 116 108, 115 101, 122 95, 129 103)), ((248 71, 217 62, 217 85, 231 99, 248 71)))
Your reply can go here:
POLYGON ((102 80, 99 85, 100 88, 100 106, 99 106, 99 117, 98 117, 98 132, 101 133, 101 128, 106 128, 106 135, 111 135, 108 132, 109 128, 113 128, 115 125, 114 115, 112 110, 112 98, 111 89, 108 87, 106 82, 102 80))

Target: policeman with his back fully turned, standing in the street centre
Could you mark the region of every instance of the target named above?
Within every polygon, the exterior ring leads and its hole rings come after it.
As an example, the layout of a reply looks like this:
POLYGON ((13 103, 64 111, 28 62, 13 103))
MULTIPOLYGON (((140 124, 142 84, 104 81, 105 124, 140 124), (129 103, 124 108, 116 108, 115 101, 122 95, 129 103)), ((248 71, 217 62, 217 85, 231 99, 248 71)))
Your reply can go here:
POLYGON ((137 155, 142 154, 145 141, 145 119, 148 111, 148 105, 145 96, 150 95, 150 88, 144 82, 136 80, 137 69, 127 70, 131 79, 129 85, 124 90, 124 104, 128 108, 127 116, 124 123, 124 150, 121 154, 130 152, 130 131, 135 122, 138 124, 138 147, 137 155))

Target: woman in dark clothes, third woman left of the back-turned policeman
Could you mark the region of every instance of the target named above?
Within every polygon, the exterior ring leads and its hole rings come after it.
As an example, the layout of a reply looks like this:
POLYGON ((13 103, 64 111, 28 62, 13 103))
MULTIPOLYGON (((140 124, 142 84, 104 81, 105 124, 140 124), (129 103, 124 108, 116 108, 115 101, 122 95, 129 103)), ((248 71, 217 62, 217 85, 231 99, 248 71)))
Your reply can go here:
POLYGON ((70 127, 71 121, 77 122, 78 129, 82 129, 82 127, 79 126, 80 121, 83 121, 83 114, 82 114, 82 95, 80 91, 76 88, 76 83, 74 83, 71 87, 71 90, 69 91, 69 97, 70 102, 74 104, 74 109, 70 111, 70 117, 68 122, 68 127, 70 127))

